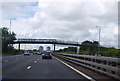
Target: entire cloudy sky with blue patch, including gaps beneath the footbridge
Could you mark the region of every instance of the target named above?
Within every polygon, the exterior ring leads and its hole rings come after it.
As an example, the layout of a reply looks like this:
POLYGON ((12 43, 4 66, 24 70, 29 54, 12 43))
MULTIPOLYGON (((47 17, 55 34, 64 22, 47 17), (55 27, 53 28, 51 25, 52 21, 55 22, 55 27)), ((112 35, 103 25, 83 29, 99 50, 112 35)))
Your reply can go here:
MULTIPOLYGON (((2 2, 0 27, 10 27, 17 38, 98 41, 118 48, 118 2, 116 0, 36 0, 2 2), (15 20, 14 20, 15 19, 15 20), (99 27, 96 27, 99 26, 99 27)), ((16 45, 14 45, 17 47, 16 45)), ((22 49, 40 45, 22 45, 22 49)), ((52 45, 43 45, 44 47, 52 45)), ((66 46, 57 46, 57 49, 66 46)))

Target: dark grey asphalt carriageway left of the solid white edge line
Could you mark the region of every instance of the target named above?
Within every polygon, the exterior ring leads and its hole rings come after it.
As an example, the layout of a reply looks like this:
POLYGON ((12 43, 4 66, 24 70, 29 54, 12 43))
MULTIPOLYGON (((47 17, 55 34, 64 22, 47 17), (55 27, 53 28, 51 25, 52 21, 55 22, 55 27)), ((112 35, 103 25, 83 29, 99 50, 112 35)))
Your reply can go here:
POLYGON ((81 79, 89 81, 79 73, 58 61, 42 59, 41 55, 14 55, 2 57, 3 79, 81 79))

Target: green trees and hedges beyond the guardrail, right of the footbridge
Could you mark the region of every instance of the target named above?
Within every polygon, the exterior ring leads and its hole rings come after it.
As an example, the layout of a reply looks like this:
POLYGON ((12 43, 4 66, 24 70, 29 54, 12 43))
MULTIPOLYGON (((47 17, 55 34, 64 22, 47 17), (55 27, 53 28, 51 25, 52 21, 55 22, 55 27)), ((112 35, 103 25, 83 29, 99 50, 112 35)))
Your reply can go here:
MULTIPOLYGON (((107 48, 100 46, 100 51, 98 50, 99 43, 97 41, 84 41, 81 43, 79 54, 82 55, 95 55, 100 54, 102 56, 110 56, 110 57, 119 57, 120 49, 116 48, 107 48)), ((60 49, 57 52, 63 53, 77 53, 77 47, 68 47, 64 49, 60 49)))

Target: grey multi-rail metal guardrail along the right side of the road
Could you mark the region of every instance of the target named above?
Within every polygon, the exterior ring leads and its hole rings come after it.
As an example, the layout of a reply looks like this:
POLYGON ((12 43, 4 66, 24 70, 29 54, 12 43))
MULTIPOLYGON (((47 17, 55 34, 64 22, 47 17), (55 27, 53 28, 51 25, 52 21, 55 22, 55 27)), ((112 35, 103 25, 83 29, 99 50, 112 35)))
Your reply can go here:
POLYGON ((116 79, 120 79, 120 63, 118 62, 119 58, 77 54, 53 55, 82 67, 106 74, 116 79))

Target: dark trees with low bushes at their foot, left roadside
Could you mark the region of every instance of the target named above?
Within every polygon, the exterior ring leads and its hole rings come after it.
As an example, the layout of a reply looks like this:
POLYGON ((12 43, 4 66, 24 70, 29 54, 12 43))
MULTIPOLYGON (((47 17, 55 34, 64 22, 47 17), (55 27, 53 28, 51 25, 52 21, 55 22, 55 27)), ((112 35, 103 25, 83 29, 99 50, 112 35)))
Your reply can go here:
POLYGON ((7 27, 2 27, 0 30, 2 31, 2 54, 18 54, 19 51, 11 44, 16 40, 16 34, 7 27))

